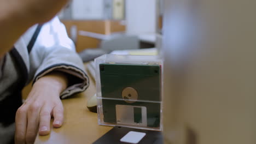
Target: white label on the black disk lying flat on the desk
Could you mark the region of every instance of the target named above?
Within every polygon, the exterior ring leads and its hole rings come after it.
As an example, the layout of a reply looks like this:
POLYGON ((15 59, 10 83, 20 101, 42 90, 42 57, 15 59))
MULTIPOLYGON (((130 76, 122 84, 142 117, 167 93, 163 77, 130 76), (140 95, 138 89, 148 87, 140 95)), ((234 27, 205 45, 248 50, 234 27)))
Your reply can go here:
POLYGON ((141 141, 145 135, 146 135, 146 133, 130 131, 120 141, 136 144, 136 143, 139 143, 139 141, 141 141))

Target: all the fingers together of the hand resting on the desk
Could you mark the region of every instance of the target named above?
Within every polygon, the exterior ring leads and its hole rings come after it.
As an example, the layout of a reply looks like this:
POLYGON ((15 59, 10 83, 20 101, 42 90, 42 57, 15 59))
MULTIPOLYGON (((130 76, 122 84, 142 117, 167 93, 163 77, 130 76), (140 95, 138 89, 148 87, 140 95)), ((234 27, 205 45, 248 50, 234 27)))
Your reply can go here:
POLYGON ((39 135, 48 135, 50 133, 51 114, 54 117, 54 128, 61 127, 63 123, 63 106, 59 99, 57 102, 39 103, 36 101, 25 102, 18 111, 15 117, 15 143, 30 144, 39 135))

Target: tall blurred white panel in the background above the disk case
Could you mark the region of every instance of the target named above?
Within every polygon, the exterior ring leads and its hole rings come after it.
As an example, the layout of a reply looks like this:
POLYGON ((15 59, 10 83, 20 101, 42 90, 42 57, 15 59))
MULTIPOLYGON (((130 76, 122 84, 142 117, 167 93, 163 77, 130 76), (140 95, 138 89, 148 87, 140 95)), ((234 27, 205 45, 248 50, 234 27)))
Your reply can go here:
POLYGON ((156 0, 126 0, 126 32, 156 33, 156 0))

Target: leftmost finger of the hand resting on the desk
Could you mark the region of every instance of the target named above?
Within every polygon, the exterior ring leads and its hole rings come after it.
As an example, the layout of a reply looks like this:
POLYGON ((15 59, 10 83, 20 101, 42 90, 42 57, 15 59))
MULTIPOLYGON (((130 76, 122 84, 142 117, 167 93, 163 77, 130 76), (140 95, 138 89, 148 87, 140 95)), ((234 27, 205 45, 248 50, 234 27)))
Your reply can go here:
POLYGON ((15 143, 26 143, 27 131, 27 107, 22 105, 16 112, 15 117, 15 143))

